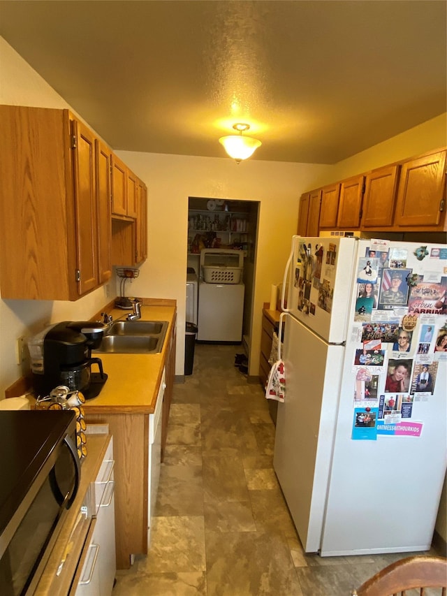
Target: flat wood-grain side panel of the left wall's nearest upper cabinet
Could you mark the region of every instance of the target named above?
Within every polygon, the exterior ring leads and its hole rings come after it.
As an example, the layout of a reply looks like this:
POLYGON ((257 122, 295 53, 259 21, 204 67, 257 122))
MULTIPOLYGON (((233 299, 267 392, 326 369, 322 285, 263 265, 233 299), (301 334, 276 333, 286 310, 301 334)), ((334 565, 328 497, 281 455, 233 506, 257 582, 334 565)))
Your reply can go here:
POLYGON ((68 116, 0 106, 0 129, 1 296, 64 300, 75 274, 67 242, 68 116))

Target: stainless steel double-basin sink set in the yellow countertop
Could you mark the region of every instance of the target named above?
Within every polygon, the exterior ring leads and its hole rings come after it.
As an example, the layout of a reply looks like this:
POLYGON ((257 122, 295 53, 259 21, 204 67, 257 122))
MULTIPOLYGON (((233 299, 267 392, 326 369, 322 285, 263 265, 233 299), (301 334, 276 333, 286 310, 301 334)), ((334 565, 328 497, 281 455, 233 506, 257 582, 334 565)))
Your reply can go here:
POLYGON ((168 321, 115 321, 94 351, 103 354, 159 354, 168 321))

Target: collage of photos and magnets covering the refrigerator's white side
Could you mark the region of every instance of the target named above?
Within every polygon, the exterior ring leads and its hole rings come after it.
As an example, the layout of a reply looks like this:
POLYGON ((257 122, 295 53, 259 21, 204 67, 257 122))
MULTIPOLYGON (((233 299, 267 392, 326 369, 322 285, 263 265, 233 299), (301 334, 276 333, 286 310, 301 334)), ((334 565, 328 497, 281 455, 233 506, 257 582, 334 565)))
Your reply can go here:
POLYGON ((447 249, 396 245, 370 240, 358 258, 353 439, 420 437, 447 363, 447 249))

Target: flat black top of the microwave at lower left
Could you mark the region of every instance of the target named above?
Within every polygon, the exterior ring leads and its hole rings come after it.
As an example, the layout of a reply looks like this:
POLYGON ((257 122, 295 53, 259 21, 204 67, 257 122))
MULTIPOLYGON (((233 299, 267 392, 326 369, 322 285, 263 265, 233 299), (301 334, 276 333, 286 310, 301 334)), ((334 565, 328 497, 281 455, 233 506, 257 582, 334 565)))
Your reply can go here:
POLYGON ((74 419, 69 410, 0 412, 0 534, 74 419))

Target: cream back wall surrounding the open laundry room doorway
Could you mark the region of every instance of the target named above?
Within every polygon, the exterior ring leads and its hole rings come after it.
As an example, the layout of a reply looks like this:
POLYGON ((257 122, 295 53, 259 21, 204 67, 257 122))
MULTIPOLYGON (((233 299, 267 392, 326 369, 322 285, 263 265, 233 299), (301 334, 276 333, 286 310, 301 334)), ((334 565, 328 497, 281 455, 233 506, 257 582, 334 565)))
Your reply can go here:
MULTIPOLYGON (((281 282, 291 235, 296 233, 298 196, 327 166, 180 155, 117 152, 145 180, 149 196, 149 258, 132 285, 136 296, 176 298, 178 337, 184 337, 188 197, 259 201, 258 252, 253 306, 250 375, 258 374, 261 311, 270 286, 281 282)), ((218 314, 217 314, 218 315, 218 314)), ((182 374, 184 342, 177 345, 177 375, 182 374)))

